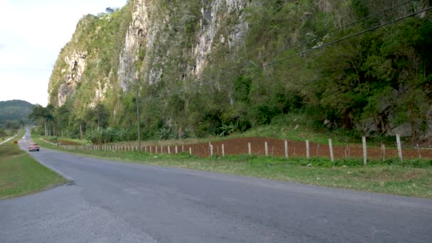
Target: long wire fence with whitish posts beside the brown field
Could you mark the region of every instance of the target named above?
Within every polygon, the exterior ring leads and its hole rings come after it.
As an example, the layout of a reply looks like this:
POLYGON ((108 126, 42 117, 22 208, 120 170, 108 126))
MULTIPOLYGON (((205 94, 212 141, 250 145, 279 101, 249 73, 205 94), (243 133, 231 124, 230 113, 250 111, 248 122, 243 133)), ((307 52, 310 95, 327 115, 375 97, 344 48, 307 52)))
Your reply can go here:
MULTIPOLYGON (((396 136, 399 138, 399 136, 396 136)), ((141 146, 141 151, 149 154, 178 154, 190 153, 194 156, 212 157, 228 155, 253 155, 281 158, 329 158, 331 161, 338 159, 368 159, 389 158, 404 159, 432 159, 432 149, 420 148, 418 145, 412 148, 402 148, 400 139, 397 139, 396 148, 387 148, 384 144, 381 147, 370 146, 366 139, 362 144, 333 145, 331 139, 328 144, 313 143, 306 141, 293 141, 288 139, 271 139, 263 137, 227 139, 199 144, 183 145, 160 145, 147 144, 141 146), (398 146, 399 145, 399 146, 398 146)), ((50 143, 53 144, 53 143, 50 143)), ((102 144, 102 145, 61 145, 54 144, 60 148, 75 151, 112 151, 112 152, 136 152, 139 147, 136 144, 102 144)))

